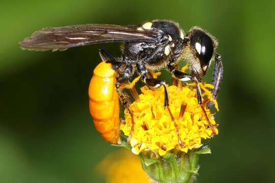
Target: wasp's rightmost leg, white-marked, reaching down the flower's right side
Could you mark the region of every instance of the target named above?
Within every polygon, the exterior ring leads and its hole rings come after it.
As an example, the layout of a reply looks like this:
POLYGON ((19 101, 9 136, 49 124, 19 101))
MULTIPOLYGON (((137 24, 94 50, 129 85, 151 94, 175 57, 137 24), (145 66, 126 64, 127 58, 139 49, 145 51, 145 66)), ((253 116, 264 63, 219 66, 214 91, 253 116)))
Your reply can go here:
MULTIPOLYGON (((199 76, 196 76, 196 72, 194 71, 193 73, 194 74, 187 74, 187 73, 183 73, 179 70, 172 70, 171 73, 178 79, 178 80, 181 80, 181 81, 188 81, 188 80, 192 80, 193 82, 195 82, 196 84, 196 90, 197 90, 197 100, 198 100, 198 103, 200 104, 201 108, 202 108, 202 111, 204 113, 204 116, 207 120, 207 123, 208 123, 208 126, 211 128, 212 130, 212 135, 216 135, 216 132, 215 132, 215 129, 214 129, 214 126, 211 124, 208 116, 207 116, 207 113, 202 105, 202 90, 201 90, 201 87, 199 85, 199 80, 197 77, 199 76)), ((198 74, 197 74, 198 75, 198 74)))

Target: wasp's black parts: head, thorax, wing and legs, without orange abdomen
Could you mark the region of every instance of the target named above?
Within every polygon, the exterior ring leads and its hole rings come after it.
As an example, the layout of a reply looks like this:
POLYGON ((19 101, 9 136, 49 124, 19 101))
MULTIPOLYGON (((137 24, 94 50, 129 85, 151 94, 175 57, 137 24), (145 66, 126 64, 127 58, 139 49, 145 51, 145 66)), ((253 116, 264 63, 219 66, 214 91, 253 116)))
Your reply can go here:
MULTIPOLYGON (((166 68, 176 79, 181 81, 191 80, 196 83, 198 103, 205 112, 198 83, 202 81, 202 77, 206 74, 211 62, 215 62, 212 93, 213 98, 216 99, 223 79, 222 57, 216 53, 217 42, 215 38, 197 26, 191 28, 186 35, 177 23, 168 20, 153 20, 143 25, 126 26, 86 24, 47 27, 25 38, 19 45, 21 48, 29 50, 56 51, 76 46, 110 42, 123 43, 123 53, 120 57, 111 55, 105 49, 101 55, 105 55, 108 62, 117 71, 115 87, 126 109, 129 104, 122 86, 129 83, 135 72, 140 74, 147 85, 164 87, 164 107, 169 109, 166 83, 148 75, 149 69, 166 68), (186 60, 190 73, 183 73, 178 70, 181 59, 186 60)), ((209 102, 208 108, 211 106, 212 103, 209 102)), ((208 118, 207 121, 213 135, 215 135, 208 118)))

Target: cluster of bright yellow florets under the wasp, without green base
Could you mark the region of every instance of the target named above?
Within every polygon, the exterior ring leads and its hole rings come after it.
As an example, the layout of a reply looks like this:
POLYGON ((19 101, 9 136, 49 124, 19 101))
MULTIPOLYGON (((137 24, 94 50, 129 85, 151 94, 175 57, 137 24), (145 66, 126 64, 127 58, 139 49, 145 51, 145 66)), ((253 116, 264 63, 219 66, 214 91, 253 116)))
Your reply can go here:
MULTIPOLYGON (((207 114, 215 134, 218 134, 217 124, 210 109, 206 108, 209 101, 218 106, 212 98, 211 84, 200 83, 203 92, 203 107, 207 114)), ((134 130, 131 133, 131 115, 127 110, 124 111, 125 120, 120 125, 120 130, 126 136, 130 136, 129 142, 132 153, 138 155, 153 151, 163 156, 166 153, 188 150, 201 147, 204 139, 211 138, 212 130, 209 127, 207 117, 198 104, 196 88, 193 83, 185 86, 168 86, 169 91, 169 112, 164 108, 164 89, 163 87, 154 90, 144 86, 141 88, 142 94, 139 101, 130 105, 133 114, 134 130), (172 116, 171 116, 172 114, 172 116), (179 134, 175 124, 178 127, 179 134), (179 137, 182 144, 179 144, 179 137)))

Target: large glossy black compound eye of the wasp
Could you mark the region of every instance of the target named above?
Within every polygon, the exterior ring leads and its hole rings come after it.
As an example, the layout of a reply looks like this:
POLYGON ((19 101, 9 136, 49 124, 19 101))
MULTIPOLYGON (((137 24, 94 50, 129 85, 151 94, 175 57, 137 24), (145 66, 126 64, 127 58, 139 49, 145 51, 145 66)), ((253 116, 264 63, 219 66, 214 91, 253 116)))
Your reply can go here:
POLYGON ((203 31, 196 30, 190 41, 191 46, 196 49, 201 65, 208 66, 214 52, 212 39, 203 31))

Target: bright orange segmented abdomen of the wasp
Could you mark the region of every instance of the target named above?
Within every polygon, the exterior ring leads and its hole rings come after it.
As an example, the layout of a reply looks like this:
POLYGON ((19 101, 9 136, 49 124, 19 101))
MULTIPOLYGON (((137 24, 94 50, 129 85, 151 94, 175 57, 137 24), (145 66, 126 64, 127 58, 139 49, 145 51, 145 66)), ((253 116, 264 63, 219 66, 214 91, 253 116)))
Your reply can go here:
POLYGON ((119 140, 119 98, 115 89, 116 71, 112 64, 101 62, 94 70, 89 86, 90 113, 94 125, 108 142, 119 140))

